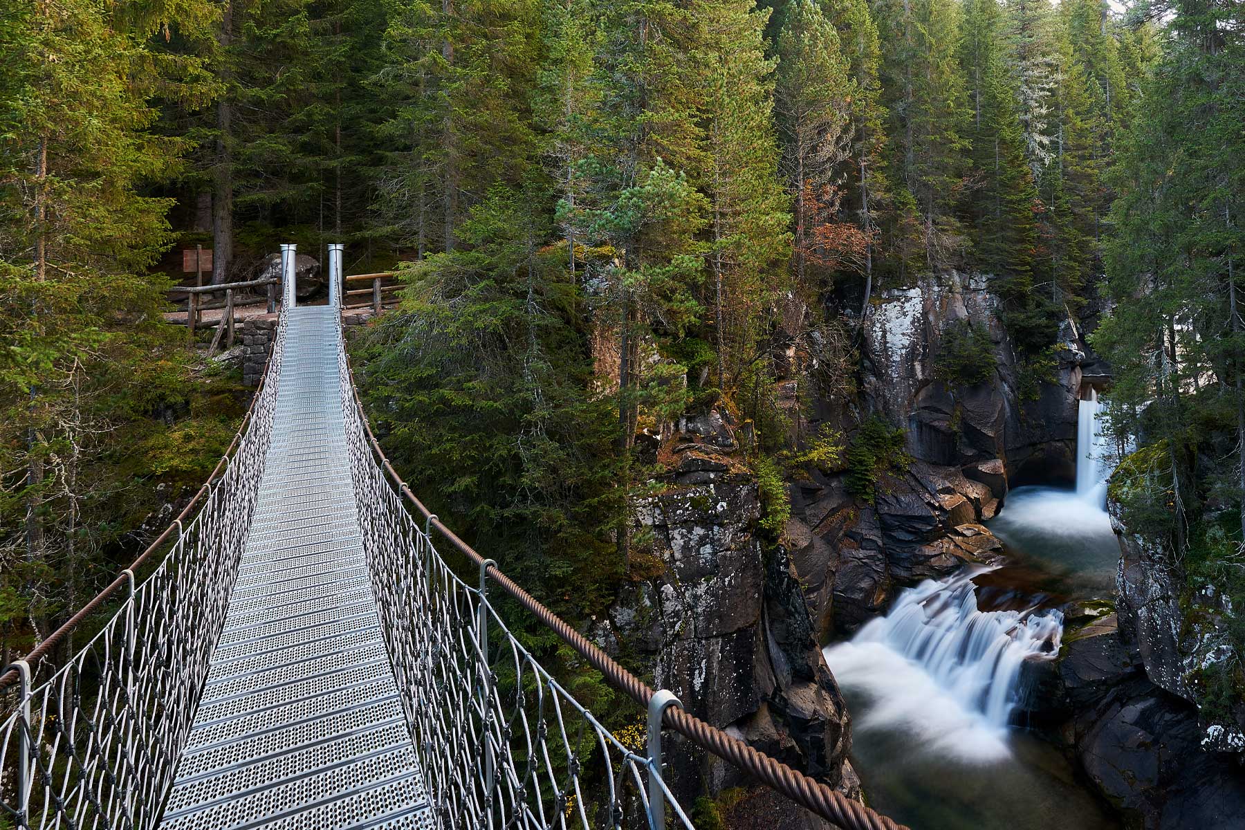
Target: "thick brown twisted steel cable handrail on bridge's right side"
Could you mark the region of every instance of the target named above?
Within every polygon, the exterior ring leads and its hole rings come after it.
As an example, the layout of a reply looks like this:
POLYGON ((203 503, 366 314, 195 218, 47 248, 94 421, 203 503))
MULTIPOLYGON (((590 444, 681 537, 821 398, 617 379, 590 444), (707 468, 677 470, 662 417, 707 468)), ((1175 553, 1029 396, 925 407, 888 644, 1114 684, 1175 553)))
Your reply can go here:
MULTIPOLYGON (((345 353, 345 352, 342 352, 345 353)), ((372 453, 380 462, 381 468, 390 477, 398 493, 417 510, 425 520, 426 526, 436 529, 458 553, 463 554, 481 572, 497 582, 509 596, 530 611, 540 622, 549 627, 558 637, 575 652, 588 661, 606 682, 615 689, 625 693, 640 707, 649 707, 656 694, 655 689, 637 678, 626 668, 615 662, 609 655, 603 652, 596 645, 584 637, 570 623, 561 620, 553 611, 528 594, 520 585, 507 576, 492 560, 481 556, 471 545, 458 538, 453 530, 447 528, 436 514, 428 510, 423 503, 411 492, 402 477, 397 474, 393 464, 381 448, 380 442, 372 432, 367 419, 362 398, 355 385, 354 372, 350 368, 349 358, 344 375, 349 377, 354 406, 357 409, 359 419, 362 422, 367 434, 367 441, 372 453)), ((904 825, 869 809, 859 801, 852 800, 835 791, 827 784, 818 781, 803 773, 792 769, 774 758, 749 747, 738 738, 733 738, 723 730, 701 720, 696 716, 688 714, 677 707, 664 709, 662 722, 671 729, 684 735, 693 744, 718 758, 727 760, 740 770, 748 773, 761 783, 782 793, 792 801, 812 810, 817 815, 833 821, 847 830, 908 830, 904 825)))

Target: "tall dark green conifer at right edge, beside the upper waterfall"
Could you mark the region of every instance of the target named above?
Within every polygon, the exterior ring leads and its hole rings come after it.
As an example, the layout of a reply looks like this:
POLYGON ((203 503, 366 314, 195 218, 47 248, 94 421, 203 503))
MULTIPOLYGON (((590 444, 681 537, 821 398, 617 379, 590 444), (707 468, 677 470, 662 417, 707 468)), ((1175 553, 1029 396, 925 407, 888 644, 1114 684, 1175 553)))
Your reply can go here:
MULTIPOLYGON (((1114 429, 1147 443, 1120 490, 1125 518, 1182 556, 1208 533, 1204 500, 1235 503, 1245 538, 1243 24, 1218 4, 1175 6, 1172 44, 1119 142, 1106 255, 1118 305, 1093 338, 1116 366, 1114 429), (1198 482, 1206 436, 1194 424, 1214 422, 1224 398, 1236 432, 1231 475, 1198 482)), ((1204 577, 1223 580, 1208 567, 1204 577)))

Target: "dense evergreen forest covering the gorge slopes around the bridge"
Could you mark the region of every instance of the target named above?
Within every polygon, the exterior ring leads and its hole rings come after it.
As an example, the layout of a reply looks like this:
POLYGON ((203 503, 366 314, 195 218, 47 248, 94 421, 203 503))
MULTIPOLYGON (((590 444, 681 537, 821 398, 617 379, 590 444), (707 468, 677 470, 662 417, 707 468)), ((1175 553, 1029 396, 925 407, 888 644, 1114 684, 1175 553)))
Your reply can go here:
POLYGON ((340 241, 403 285, 351 343, 390 457, 584 627, 661 574, 636 516, 688 419, 728 426, 761 550, 794 550, 810 477, 879 509, 924 450, 870 327, 980 279, 990 320, 928 338, 949 429, 981 388, 1040 422, 1069 343, 1109 367, 1117 530, 1165 551, 1173 607, 1225 597, 1189 682, 1245 727, 1243 212, 1233 0, 9 0, 0 663, 245 411, 166 322, 179 249, 222 284, 340 241))

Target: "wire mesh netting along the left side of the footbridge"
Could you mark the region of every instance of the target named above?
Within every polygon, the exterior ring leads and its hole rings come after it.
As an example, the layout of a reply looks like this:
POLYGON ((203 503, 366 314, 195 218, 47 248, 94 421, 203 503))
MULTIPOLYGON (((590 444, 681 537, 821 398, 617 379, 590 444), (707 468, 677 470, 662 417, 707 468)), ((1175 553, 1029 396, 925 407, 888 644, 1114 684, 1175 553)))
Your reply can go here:
POLYGON ((285 329, 283 314, 245 432, 171 549, 123 572, 120 607, 85 645, 61 648, 71 656, 0 671, 16 674, 0 691, 0 829, 159 821, 259 495, 285 329))

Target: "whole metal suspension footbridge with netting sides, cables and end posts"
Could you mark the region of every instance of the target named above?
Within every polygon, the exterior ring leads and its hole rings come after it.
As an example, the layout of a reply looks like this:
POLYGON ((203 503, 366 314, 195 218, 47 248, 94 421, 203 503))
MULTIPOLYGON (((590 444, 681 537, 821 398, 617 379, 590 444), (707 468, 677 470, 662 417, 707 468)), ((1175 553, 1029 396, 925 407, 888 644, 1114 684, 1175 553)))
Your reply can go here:
POLYGON ((670 733, 839 826, 901 830, 685 713, 432 515, 367 424, 329 259, 329 305, 298 306, 283 246, 264 378, 208 483, 0 671, 0 830, 692 828, 670 733), (500 597, 646 711, 645 739, 583 707, 500 597))

